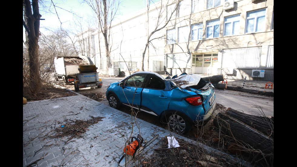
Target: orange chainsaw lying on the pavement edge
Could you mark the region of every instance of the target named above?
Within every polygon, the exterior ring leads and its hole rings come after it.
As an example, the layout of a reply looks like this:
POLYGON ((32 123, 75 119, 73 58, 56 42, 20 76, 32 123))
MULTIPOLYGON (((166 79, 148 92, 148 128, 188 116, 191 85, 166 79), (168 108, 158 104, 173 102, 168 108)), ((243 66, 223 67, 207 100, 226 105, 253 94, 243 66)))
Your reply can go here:
POLYGON ((148 145, 150 145, 158 137, 159 135, 156 135, 149 142, 145 143, 144 146, 142 146, 143 138, 139 134, 137 135, 137 138, 133 136, 131 138, 131 142, 128 142, 128 145, 125 146, 123 156, 118 161, 118 165, 124 166, 126 163, 134 159, 135 155, 139 155, 148 145))

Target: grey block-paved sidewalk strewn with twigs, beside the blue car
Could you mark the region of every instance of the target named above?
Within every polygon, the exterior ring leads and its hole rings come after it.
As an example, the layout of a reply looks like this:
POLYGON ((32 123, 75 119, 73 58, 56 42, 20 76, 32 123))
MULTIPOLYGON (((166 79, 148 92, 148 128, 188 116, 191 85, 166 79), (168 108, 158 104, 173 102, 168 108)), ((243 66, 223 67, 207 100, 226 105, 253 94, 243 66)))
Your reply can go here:
MULTIPOLYGON (((131 116, 83 95, 28 102, 23 105, 23 166, 36 162, 43 166, 118 166, 125 138, 139 133, 131 116), (67 142, 68 137, 48 138, 65 120, 89 120, 104 117, 90 126, 82 138, 67 142), (123 137, 123 135, 125 137, 123 137)), ((137 119, 144 139, 169 136, 169 131, 137 119)), ((177 138, 188 140, 182 136, 177 138)), ((152 153, 151 149, 146 154, 152 153)))

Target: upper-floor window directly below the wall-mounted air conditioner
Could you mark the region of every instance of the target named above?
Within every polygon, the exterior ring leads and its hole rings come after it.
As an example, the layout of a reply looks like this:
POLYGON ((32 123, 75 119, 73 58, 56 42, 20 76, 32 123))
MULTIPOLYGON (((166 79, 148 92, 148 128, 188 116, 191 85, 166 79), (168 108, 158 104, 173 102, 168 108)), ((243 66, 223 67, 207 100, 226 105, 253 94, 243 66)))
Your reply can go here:
POLYGON ((225 17, 224 20, 224 36, 239 34, 239 19, 240 15, 225 17))

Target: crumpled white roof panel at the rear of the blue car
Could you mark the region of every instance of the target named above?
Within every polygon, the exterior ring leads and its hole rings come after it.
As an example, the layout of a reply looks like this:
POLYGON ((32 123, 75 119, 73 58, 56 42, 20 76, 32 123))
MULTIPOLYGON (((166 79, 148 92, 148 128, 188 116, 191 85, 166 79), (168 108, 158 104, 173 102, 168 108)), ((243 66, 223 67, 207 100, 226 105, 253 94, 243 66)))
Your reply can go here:
POLYGON ((177 78, 170 79, 176 85, 180 86, 182 89, 186 87, 195 86, 200 82, 201 75, 199 74, 187 74, 187 75, 180 75, 177 78))

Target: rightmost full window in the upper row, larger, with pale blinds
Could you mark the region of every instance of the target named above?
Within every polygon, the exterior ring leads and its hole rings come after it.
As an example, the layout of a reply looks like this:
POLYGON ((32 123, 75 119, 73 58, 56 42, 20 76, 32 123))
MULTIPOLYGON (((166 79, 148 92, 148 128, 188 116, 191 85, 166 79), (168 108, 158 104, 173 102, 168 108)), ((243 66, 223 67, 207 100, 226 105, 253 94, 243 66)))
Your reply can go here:
POLYGON ((248 12, 246 16, 246 33, 264 31, 265 11, 266 9, 248 12))

